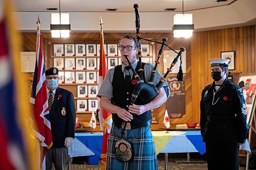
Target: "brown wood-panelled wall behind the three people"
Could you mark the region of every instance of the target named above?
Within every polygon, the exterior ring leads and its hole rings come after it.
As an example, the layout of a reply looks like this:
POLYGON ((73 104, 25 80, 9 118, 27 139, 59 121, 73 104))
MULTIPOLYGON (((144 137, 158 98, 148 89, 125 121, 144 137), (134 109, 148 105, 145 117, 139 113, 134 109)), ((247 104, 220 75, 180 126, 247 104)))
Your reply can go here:
MULTIPOLYGON (((184 124, 186 122, 198 122, 200 120, 199 103, 201 91, 207 84, 212 82, 210 77, 210 58, 220 58, 222 51, 236 51, 235 70, 230 72, 255 72, 255 39, 256 26, 238 27, 231 29, 221 29, 214 31, 195 32, 190 39, 173 38, 172 33, 141 33, 144 38, 161 41, 163 37, 168 38, 167 44, 175 49, 184 46, 187 51, 186 56, 186 74, 185 81, 185 107, 186 114, 182 118, 170 119, 171 124, 184 124)), ((118 41, 124 34, 134 33, 104 33, 105 42, 118 41)), ((50 33, 42 33, 46 67, 52 66, 51 55, 53 54, 52 44, 54 43, 74 43, 77 40, 99 41, 99 33, 71 33, 68 39, 53 39, 50 33)), ((36 33, 22 33, 23 51, 35 51, 36 33)), ((158 53, 160 45, 153 44, 154 53, 158 53)), ((167 50, 165 48, 164 50, 167 50)), ((161 73, 163 70, 163 58, 160 59, 158 69, 161 73)), ((31 78, 32 74, 27 74, 31 78)), ((171 74, 170 76, 176 76, 171 74)), ((157 130, 164 128, 163 117, 165 104, 154 109, 158 115, 158 124, 153 124, 152 129, 157 130)), ((90 119, 90 115, 83 116, 84 119, 90 119)), ((99 130, 97 128, 97 130, 99 130)))

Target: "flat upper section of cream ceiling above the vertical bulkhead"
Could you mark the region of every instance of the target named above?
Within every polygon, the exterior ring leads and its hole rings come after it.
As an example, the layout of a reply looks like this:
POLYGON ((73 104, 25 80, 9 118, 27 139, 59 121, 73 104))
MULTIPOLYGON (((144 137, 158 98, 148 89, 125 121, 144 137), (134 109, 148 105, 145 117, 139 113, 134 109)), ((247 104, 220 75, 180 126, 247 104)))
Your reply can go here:
MULTIPOLYGON (((184 11, 227 6, 239 0, 184 0, 184 11)), ((59 0, 14 0, 17 11, 46 12, 47 8, 59 10, 59 0)), ((182 11, 182 0, 60 0, 61 11, 67 12, 104 12, 106 9, 117 9, 116 12, 132 12, 133 5, 139 4, 140 12, 163 12, 166 8, 182 11)), ((170 11, 168 11, 170 12, 170 11)))

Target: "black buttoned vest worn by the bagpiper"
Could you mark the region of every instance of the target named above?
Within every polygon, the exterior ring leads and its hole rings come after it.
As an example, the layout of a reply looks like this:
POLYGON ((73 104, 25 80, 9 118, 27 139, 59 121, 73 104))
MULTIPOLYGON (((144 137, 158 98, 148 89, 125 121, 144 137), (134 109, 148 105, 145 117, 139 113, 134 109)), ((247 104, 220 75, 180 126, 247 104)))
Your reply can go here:
MULTIPOLYGON (((142 63, 142 68, 144 68, 145 63, 142 63)), ((135 71, 138 72, 139 65, 137 64, 135 71)), ((143 79, 145 82, 145 76, 143 74, 143 79)), ((131 105, 131 99, 133 94, 133 89, 135 85, 137 84, 137 81, 134 78, 134 75, 131 80, 131 84, 127 85, 124 81, 124 75, 122 72, 122 65, 118 65, 115 67, 114 75, 113 75, 113 81, 112 81, 112 87, 113 87, 113 96, 111 99, 111 103, 128 110, 128 106, 131 105)), ((143 105, 139 98, 136 100, 136 105, 143 105)), ((146 122, 151 120, 151 110, 146 111, 145 113, 141 115, 133 114, 133 119, 131 121, 131 127, 140 128, 145 125, 146 122)), ((121 124, 123 122, 123 119, 118 117, 117 114, 112 114, 113 123, 117 127, 121 127, 121 124)))

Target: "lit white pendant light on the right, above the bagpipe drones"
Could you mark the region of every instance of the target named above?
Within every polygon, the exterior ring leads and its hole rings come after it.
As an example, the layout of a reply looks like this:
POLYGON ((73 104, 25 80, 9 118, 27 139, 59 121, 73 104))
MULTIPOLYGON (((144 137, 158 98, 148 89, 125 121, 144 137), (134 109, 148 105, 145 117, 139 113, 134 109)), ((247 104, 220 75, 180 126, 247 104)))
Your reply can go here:
POLYGON ((173 33, 174 37, 189 38, 193 35, 193 14, 184 14, 184 3, 182 0, 182 14, 174 15, 173 33))

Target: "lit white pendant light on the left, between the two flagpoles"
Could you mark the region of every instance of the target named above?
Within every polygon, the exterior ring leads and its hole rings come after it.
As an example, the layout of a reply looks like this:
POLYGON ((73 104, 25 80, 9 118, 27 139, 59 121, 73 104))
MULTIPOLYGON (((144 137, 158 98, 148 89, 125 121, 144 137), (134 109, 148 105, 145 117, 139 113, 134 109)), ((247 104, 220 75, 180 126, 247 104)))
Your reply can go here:
POLYGON ((60 12, 59 0, 59 13, 51 14, 50 30, 52 38, 69 38, 71 25, 69 23, 69 13, 60 12))

